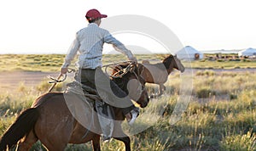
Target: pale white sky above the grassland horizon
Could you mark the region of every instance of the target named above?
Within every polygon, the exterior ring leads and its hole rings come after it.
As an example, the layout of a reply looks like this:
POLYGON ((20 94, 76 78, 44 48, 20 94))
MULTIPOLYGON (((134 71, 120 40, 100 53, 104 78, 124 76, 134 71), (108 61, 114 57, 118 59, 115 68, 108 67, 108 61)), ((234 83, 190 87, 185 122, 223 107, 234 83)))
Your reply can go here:
MULTIPOLYGON (((0 53, 67 53, 75 33, 87 26, 84 15, 90 8, 108 17, 137 14, 157 20, 183 46, 202 51, 256 48, 255 4, 253 0, 1 1, 0 53)), ((132 45, 136 38, 130 36, 117 37, 132 45)))

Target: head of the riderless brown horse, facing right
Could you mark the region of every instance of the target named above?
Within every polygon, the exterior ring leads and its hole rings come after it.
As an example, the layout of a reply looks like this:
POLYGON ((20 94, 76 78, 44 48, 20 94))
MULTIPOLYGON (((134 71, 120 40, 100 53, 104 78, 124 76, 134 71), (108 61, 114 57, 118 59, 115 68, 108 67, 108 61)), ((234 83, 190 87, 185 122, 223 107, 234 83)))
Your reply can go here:
POLYGON ((172 69, 180 70, 183 72, 185 67, 181 63, 180 59, 177 59, 177 55, 170 54, 166 59, 163 60, 163 64, 165 64, 166 69, 171 72, 172 69))

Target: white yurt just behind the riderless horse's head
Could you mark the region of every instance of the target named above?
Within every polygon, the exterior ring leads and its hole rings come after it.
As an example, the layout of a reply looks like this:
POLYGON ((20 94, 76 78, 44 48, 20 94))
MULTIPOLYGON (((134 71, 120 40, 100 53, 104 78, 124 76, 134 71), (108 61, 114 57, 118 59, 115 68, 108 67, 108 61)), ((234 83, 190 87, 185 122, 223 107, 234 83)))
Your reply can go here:
POLYGON ((204 54, 200 51, 192 48, 191 46, 186 46, 181 50, 177 51, 178 59, 187 59, 187 60, 195 60, 195 59, 203 59, 204 54))

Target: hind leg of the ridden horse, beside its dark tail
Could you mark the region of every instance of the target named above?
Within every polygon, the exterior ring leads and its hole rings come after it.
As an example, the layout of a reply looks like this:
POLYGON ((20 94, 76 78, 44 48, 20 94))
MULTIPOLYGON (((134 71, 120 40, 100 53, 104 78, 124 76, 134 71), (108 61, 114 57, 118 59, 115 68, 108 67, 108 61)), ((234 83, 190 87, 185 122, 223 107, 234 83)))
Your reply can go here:
POLYGON ((35 136, 33 131, 30 131, 26 137, 20 140, 16 151, 28 151, 34 143, 37 143, 37 141, 38 137, 35 136))

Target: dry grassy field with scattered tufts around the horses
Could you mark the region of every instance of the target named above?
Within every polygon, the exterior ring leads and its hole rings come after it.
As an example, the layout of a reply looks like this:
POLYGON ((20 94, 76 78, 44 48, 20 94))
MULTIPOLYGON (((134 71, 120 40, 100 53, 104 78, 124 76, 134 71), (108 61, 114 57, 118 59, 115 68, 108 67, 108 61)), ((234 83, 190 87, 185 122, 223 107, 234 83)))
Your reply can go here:
MULTIPOLYGON (((104 56, 104 63, 115 60, 125 60, 116 56, 104 56)), ((0 55, 1 70, 40 70, 58 71, 64 55, 0 55), (18 64, 15 67, 15 64, 18 64), (55 65, 53 65, 55 64, 55 65)), ((141 55, 138 60, 161 60, 163 55, 141 55), (154 58, 155 59, 154 59, 154 58)), ((152 100, 142 113, 148 110, 160 115, 153 126, 131 136, 132 150, 162 151, 162 150, 256 150, 256 72, 248 70, 218 71, 214 69, 253 69, 253 61, 194 61, 183 62, 193 72, 193 90, 188 108, 181 120, 175 125, 169 123, 172 112, 180 97, 180 75, 178 72, 169 76, 166 82, 166 93, 156 101, 152 100), (207 69, 207 70, 204 70, 207 69), (157 107, 157 108, 156 108, 157 107), (161 111, 157 110, 162 108, 161 111)), ((65 83, 63 84, 65 85, 65 83)), ((61 91, 62 85, 57 85, 55 91, 61 91)), ((147 85, 152 92, 154 85, 147 85)), ((49 88, 47 81, 42 81, 35 87, 20 84, 10 92, 0 94, 0 134, 20 114, 20 111, 32 104, 32 101, 49 88)), ((148 117, 149 118, 149 117, 148 117)), ((147 120, 147 119, 146 119, 147 120)), ((44 150, 41 143, 32 150, 44 150)), ((90 143, 68 145, 66 150, 91 150, 90 143)), ((102 150, 125 150, 122 143, 112 140, 102 144, 102 150)))

